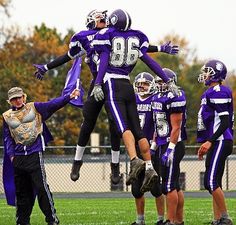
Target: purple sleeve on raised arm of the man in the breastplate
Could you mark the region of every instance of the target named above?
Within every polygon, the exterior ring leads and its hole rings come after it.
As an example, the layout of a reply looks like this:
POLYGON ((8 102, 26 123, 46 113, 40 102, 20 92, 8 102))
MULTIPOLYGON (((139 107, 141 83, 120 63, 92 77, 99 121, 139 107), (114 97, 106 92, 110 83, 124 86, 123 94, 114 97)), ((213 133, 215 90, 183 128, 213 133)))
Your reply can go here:
POLYGON ((70 101, 70 95, 60 96, 48 102, 35 102, 36 110, 41 114, 43 121, 47 120, 53 113, 61 109, 70 101))

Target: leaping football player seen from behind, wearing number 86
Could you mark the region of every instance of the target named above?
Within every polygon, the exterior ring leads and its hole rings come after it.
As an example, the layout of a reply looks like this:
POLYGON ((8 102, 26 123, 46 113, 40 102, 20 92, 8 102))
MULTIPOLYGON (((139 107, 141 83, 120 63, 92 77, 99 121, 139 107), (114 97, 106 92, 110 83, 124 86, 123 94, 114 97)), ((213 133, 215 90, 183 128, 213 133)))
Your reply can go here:
MULTIPOLYGON (((121 9, 109 16, 109 28, 96 34, 92 45, 99 54, 100 64, 93 94, 97 100, 104 99, 109 116, 115 121, 131 160, 131 170, 126 184, 130 185, 146 167, 141 191, 149 191, 157 174, 151 163, 149 143, 143 134, 136 108, 135 94, 129 81, 129 74, 140 58, 162 79, 170 83, 162 68, 147 55, 148 38, 138 30, 130 29, 131 18, 121 9), (103 85, 103 87, 102 87, 103 85), (140 147, 143 160, 136 154, 135 140, 140 147), (146 164, 146 166, 145 166, 146 164)), ((173 91, 176 86, 170 84, 173 91)))

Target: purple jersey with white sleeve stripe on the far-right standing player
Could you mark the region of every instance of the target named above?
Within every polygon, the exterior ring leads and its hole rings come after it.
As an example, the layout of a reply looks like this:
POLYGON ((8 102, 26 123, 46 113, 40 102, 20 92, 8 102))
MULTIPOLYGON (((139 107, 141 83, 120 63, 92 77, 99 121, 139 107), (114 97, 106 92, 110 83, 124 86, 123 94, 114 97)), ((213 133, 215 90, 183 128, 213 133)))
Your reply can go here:
POLYGON ((218 129, 220 116, 229 115, 230 126, 217 140, 233 140, 233 98, 232 91, 223 85, 207 89, 201 97, 198 112, 197 142, 205 142, 218 129))

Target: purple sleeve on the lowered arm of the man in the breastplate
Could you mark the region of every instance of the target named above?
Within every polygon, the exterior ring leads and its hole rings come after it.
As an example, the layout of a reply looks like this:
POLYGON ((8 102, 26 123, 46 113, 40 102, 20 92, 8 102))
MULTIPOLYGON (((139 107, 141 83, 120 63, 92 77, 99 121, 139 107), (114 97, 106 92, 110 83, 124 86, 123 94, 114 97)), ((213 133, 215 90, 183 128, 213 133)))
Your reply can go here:
POLYGON ((15 155, 15 141, 11 136, 11 132, 8 128, 6 121, 3 119, 3 141, 4 147, 6 148, 5 151, 9 158, 15 155))

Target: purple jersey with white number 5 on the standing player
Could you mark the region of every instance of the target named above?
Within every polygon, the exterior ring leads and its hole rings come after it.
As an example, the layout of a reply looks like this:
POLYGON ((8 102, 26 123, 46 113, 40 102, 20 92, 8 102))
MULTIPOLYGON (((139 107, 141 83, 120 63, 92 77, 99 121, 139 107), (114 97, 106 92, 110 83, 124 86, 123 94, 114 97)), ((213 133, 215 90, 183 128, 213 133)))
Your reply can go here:
POLYGON ((172 113, 183 113, 181 131, 178 141, 187 139, 186 134, 186 97, 183 90, 179 96, 174 96, 172 92, 158 93, 152 98, 152 110, 155 121, 155 131, 157 134, 156 143, 166 144, 170 141, 172 113))

